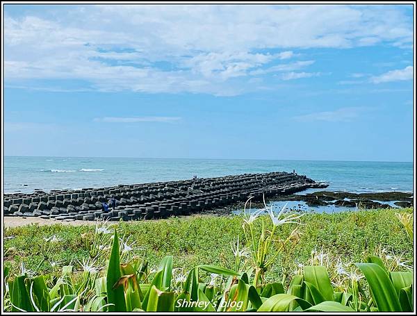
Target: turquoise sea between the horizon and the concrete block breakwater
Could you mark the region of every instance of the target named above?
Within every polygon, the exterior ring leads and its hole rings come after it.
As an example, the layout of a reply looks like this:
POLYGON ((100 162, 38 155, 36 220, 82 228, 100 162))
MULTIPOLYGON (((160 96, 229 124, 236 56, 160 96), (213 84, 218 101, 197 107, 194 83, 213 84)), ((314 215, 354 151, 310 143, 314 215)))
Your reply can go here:
POLYGON ((254 172, 286 171, 328 182, 327 190, 413 190, 412 163, 302 160, 215 160, 149 158, 4 158, 4 192, 96 188, 254 172))

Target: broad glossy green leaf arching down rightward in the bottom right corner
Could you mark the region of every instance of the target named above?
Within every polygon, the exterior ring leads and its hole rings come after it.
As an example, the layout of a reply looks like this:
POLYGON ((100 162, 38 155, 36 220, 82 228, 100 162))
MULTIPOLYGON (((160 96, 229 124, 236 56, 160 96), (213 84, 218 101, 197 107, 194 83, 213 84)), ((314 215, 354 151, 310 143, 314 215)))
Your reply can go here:
POLYGON ((356 265, 365 274, 379 312, 400 312, 402 310, 400 301, 384 269, 376 263, 357 263, 356 265))

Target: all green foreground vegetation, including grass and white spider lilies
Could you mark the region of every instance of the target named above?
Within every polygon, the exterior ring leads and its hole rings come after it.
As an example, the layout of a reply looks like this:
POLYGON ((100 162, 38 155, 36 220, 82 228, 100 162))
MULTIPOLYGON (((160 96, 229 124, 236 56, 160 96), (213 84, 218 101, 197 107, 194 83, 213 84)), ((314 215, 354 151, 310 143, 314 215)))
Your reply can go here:
POLYGON ((395 214, 398 210, 310 214, 302 217, 305 225, 296 214, 266 210, 269 217, 255 213, 134 225, 10 229, 6 233, 15 238, 6 245, 6 310, 413 310, 412 265, 407 263, 412 241, 407 225, 398 221, 407 215, 410 224, 411 210, 400 215, 395 214), (64 235, 68 232, 70 236, 64 235), (41 239, 37 248, 26 245, 32 254, 22 252, 20 256, 26 256, 18 258, 17 247, 24 246, 19 238, 33 244, 35 236, 41 239), (203 246, 210 247, 211 256, 203 246), (82 263, 60 256, 65 248, 82 257, 82 263), (148 258, 156 260, 168 251, 174 256, 178 252, 184 265, 177 268, 172 256, 164 256, 158 267, 149 266, 148 258), (81 266, 82 272, 74 273, 73 265, 57 269, 56 256, 81 266), (37 271, 52 269, 53 274, 31 276, 22 265, 13 275, 8 268, 12 257, 37 265, 37 271), (356 257, 362 258, 356 261, 360 263, 350 261, 356 257), (218 260, 225 264, 208 264, 218 260))

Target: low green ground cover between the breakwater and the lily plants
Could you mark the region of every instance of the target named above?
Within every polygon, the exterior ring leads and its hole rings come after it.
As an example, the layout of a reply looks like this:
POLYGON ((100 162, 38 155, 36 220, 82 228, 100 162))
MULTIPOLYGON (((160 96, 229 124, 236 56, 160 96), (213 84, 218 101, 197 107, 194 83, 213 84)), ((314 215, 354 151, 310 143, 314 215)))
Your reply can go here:
MULTIPOLYGON (((268 278, 281 279, 283 272, 291 272, 295 263, 305 263, 315 248, 323 247, 329 253, 342 256, 345 261, 359 262, 377 247, 388 247, 402 254, 403 260, 413 259, 413 245, 395 213, 412 213, 412 208, 388 210, 361 210, 334 214, 307 213, 302 217, 302 235, 295 248, 288 249, 284 258, 267 273, 268 278)), ((174 256, 174 267, 186 270, 198 264, 233 267, 231 241, 239 235, 244 240, 241 216, 196 215, 158 221, 122 222, 120 231, 135 241, 136 247, 146 249, 151 266, 157 266, 164 256, 174 256)), ((258 227, 260 228, 260 227, 258 227)), ((284 226, 288 234, 292 224, 284 226)), ((6 228, 4 240, 5 261, 11 272, 19 271, 19 264, 37 273, 53 273, 48 261, 42 263, 44 237, 57 235, 63 240, 54 248, 50 261, 60 266, 72 263, 80 269, 77 260, 88 258, 88 250, 81 234, 94 231, 95 226, 29 225, 6 228)), ((138 254, 143 251, 137 250, 138 254)), ((56 273, 60 269, 56 268, 56 273)))

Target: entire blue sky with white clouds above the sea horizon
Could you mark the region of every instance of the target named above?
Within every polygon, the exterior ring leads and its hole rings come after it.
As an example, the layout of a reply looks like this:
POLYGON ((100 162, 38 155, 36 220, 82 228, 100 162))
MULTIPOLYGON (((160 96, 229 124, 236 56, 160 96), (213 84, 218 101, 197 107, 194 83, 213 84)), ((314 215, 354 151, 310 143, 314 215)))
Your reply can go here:
POLYGON ((4 5, 4 153, 413 159, 413 8, 4 5))

